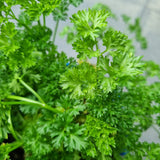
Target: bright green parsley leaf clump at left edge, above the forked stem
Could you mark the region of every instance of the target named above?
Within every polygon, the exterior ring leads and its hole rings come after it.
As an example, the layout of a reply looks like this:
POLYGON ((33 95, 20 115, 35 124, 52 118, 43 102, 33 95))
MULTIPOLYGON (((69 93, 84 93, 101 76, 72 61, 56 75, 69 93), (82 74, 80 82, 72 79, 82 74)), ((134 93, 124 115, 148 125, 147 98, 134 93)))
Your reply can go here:
POLYGON ((3 24, 0 36, 1 54, 11 70, 18 70, 18 66, 29 68, 35 64, 36 49, 29 40, 23 39, 23 33, 15 29, 14 23, 3 24))

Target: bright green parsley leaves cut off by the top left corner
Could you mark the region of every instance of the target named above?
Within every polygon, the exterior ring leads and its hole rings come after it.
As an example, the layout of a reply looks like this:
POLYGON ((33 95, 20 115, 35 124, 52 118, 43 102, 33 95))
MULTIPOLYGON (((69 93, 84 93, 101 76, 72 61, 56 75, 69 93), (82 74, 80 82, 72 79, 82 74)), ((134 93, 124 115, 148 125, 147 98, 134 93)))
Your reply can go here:
POLYGON ((56 7, 59 6, 60 2, 60 0, 46 0, 45 2, 42 0, 2 0, 0 5, 0 14, 2 15, 2 18, 0 22, 7 20, 8 16, 18 20, 12 12, 11 7, 13 5, 20 5, 21 9, 23 9, 32 20, 38 20, 42 14, 44 16, 49 15, 56 7), (2 14, 2 11, 5 12, 5 15, 2 14))

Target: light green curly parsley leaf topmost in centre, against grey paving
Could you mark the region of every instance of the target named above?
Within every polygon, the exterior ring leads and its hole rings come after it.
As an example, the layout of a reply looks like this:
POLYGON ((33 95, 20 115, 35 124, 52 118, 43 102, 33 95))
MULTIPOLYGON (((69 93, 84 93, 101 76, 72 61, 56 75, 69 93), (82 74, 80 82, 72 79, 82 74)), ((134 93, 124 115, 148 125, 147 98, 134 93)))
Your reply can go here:
POLYGON ((105 10, 83 10, 73 14, 71 22, 76 27, 77 34, 83 38, 95 40, 106 28, 109 14, 105 10))

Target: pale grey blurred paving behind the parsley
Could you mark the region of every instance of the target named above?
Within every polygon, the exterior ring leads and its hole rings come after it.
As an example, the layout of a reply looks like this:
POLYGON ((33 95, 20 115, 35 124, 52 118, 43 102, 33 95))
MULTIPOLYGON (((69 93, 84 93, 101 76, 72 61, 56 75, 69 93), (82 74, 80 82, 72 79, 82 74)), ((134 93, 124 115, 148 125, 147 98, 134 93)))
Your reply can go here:
MULTIPOLYGON (((141 50, 140 46, 136 43, 136 55, 143 55, 144 60, 153 60, 160 64, 160 0, 84 0, 84 3, 78 8, 70 7, 68 15, 70 17, 78 10, 91 8, 97 3, 106 4, 117 16, 117 20, 109 20, 108 23, 108 25, 116 30, 128 33, 127 26, 121 17, 122 14, 129 16, 132 22, 139 17, 142 35, 147 38, 148 48, 146 50, 141 50)), ((13 10, 16 15, 19 14, 18 6, 15 6, 13 10)), ((46 24, 49 28, 54 30, 55 22, 53 21, 52 16, 47 17, 46 24)), ((59 33, 66 25, 72 25, 69 18, 64 22, 59 23, 55 44, 58 45, 59 51, 64 51, 68 56, 76 57, 76 53, 73 51, 72 46, 66 43, 66 38, 59 36, 59 33)), ((129 34, 129 37, 132 37, 132 35, 129 34)), ((156 78, 151 79, 150 83, 156 80, 156 78)), ((157 126, 154 127, 160 131, 160 128, 157 126)), ((142 135, 141 141, 160 143, 158 134, 154 131, 153 127, 142 135)))

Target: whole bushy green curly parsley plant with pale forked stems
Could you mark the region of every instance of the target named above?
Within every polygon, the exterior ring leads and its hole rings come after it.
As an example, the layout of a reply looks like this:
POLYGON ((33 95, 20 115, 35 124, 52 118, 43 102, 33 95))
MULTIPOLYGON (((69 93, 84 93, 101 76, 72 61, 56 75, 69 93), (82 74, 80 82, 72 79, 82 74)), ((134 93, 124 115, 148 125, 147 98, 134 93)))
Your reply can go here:
POLYGON ((81 2, 0 2, 0 159, 15 159, 15 150, 21 160, 159 158, 160 145, 139 138, 160 124, 153 118, 160 83, 147 83, 160 68, 135 56, 127 35, 108 26, 111 12, 99 7, 70 18, 68 40, 78 63, 57 51, 58 23, 70 4, 81 2), (18 18, 13 5, 22 9, 18 18), (46 26, 51 13, 53 37, 46 26))

